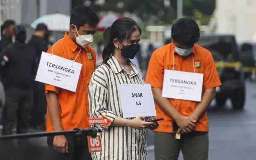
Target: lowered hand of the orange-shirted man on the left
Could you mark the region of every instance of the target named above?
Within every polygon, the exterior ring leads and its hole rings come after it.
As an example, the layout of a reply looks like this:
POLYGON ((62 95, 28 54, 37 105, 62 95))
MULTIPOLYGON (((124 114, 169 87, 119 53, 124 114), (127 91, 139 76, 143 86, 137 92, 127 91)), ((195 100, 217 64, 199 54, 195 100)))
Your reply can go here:
POLYGON ((54 136, 53 148, 60 153, 67 153, 68 143, 64 135, 54 136))

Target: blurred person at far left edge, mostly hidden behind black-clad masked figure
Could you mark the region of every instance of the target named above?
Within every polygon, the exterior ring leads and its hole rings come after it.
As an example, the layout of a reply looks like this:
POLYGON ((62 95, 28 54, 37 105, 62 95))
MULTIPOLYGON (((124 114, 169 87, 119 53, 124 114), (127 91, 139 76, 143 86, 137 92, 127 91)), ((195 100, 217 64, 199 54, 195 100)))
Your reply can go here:
MULTIPOLYGON (((15 21, 14 20, 6 20, 4 21, 3 25, 1 26, 1 40, 0 40, 0 53, 4 47, 6 47, 9 43, 13 43, 14 41, 14 28, 15 28, 15 21)), ((3 70, 0 70, 0 83, 3 83, 2 75, 3 70)), ((0 94, 4 94, 4 89, 1 90, 0 94), (3 92, 3 93, 2 93, 3 92)), ((3 109, 2 116, 0 116, 0 130, 3 128, 3 115, 6 112, 6 108, 3 109)), ((1 114, 1 113, 0 113, 1 114)))

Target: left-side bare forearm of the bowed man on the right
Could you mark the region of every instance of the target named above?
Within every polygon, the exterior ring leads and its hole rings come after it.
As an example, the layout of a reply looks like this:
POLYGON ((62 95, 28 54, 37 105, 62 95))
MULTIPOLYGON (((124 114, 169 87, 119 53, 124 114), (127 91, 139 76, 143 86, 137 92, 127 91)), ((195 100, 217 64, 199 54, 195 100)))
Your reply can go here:
POLYGON ((152 88, 154 100, 160 106, 163 111, 168 114, 169 117, 176 119, 180 113, 172 106, 170 101, 167 98, 162 97, 162 89, 159 88, 152 88))

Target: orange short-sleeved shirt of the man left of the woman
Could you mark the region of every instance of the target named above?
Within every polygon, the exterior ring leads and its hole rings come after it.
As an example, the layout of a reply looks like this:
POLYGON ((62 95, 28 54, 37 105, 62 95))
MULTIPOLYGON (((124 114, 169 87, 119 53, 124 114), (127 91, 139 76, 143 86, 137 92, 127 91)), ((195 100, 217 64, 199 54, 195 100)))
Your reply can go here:
MULTIPOLYGON (((81 47, 77 46, 73 40, 68 37, 68 32, 64 38, 59 40, 55 46, 52 45, 48 49, 48 53, 64 57, 69 60, 75 60, 81 47)), ((91 76, 96 67, 96 54, 92 47, 87 46, 81 49, 80 54, 76 58, 76 62, 82 64, 76 92, 61 89, 49 84, 45 84, 45 93, 55 91, 58 95, 58 103, 60 106, 61 124, 63 130, 72 130, 74 128, 89 127, 87 118, 89 117, 88 103, 88 86, 91 76)), ((48 107, 47 107, 48 108, 48 107)), ((47 131, 54 131, 47 109, 47 131)))

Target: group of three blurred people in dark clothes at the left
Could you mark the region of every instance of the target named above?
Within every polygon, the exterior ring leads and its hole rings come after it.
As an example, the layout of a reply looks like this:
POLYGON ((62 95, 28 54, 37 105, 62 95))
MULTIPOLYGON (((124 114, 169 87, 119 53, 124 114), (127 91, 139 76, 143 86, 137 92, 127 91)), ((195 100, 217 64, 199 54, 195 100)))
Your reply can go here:
POLYGON ((49 31, 38 24, 31 39, 26 28, 14 20, 3 23, 0 40, 0 80, 3 84, 1 98, 3 135, 26 133, 29 127, 45 128, 46 97, 44 84, 35 81, 35 74, 42 51, 48 49, 49 31))

